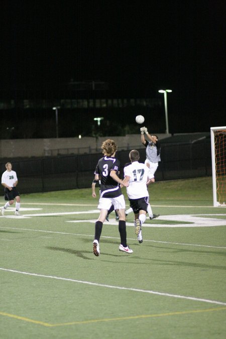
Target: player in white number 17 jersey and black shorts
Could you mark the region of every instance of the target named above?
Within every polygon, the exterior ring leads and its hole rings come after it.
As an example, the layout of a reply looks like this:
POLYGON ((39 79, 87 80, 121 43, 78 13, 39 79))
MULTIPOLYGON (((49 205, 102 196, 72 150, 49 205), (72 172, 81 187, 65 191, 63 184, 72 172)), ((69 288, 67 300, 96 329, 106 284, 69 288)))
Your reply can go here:
POLYGON ((149 193, 147 189, 147 182, 150 180, 151 174, 148 167, 140 163, 140 153, 137 150, 130 152, 131 165, 124 167, 125 184, 129 183, 127 187, 127 194, 130 201, 130 207, 134 211, 134 224, 137 239, 141 244, 142 238, 142 224, 146 220, 146 213, 149 201, 149 193))

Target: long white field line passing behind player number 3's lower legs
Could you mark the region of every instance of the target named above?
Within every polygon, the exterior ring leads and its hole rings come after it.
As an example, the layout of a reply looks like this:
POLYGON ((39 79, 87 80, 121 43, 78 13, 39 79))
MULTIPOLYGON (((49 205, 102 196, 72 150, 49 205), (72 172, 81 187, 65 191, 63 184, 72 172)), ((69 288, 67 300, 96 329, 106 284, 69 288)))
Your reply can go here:
MULTIPOLYGON (((17 231, 21 230, 21 231, 32 231, 32 232, 44 232, 44 233, 53 233, 53 234, 55 233, 55 234, 62 234, 62 235, 67 235, 67 236, 91 237, 93 239, 93 235, 88 235, 88 234, 77 234, 77 233, 46 231, 46 230, 32 230, 32 229, 24 229, 24 228, 22 229, 22 228, 18 228, 18 227, 2 227, 2 226, 0 226, 0 229, 17 230, 17 231)), ((101 238, 120 240, 120 238, 118 238, 118 237, 101 236, 101 238)), ((135 238, 127 238, 127 240, 137 240, 137 239, 135 239, 135 238)), ((151 242, 151 243, 181 245, 181 246, 197 246, 197 247, 207 247, 207 248, 210 247, 210 248, 215 248, 215 249, 226 249, 226 247, 223 247, 223 246, 211 246, 211 245, 199 245, 199 244, 184 244, 184 243, 173 243, 173 242, 158 241, 158 240, 145 240, 145 239, 143 239, 143 241, 144 242, 151 242)))

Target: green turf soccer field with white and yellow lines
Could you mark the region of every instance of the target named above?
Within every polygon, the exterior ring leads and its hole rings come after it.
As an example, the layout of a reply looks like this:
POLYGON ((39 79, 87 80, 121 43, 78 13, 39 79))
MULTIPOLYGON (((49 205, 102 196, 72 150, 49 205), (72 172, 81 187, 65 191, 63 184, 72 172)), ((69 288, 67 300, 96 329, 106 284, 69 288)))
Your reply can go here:
POLYGON ((212 206, 211 178, 149 192, 160 216, 146 220, 143 244, 130 213, 134 253, 119 251, 112 212, 99 257, 91 187, 21 194, 23 216, 0 216, 0 338, 224 339, 226 208, 212 206))

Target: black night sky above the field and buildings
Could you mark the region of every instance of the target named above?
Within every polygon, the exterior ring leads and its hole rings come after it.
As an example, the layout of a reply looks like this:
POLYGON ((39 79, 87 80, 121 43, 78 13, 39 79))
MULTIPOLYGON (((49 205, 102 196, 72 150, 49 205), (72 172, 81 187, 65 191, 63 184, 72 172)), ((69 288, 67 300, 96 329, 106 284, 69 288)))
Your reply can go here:
POLYGON ((90 79, 162 100, 170 88, 176 133, 187 117, 187 132, 226 125, 224 0, 5 2, 1 31, 1 88, 90 79))

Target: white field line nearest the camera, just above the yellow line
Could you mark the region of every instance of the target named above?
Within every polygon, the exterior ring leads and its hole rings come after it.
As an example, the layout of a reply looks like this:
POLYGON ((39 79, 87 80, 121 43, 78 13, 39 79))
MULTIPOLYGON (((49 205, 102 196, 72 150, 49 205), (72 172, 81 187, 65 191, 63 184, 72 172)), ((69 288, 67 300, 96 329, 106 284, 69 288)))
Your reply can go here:
POLYGON ((80 283, 80 284, 87 284, 87 285, 93 285, 93 286, 99 286, 99 287, 115 288, 115 289, 134 291, 134 292, 150 293, 150 294, 162 295, 162 296, 166 296, 166 297, 173 297, 173 298, 181 298, 181 299, 188 299, 188 300, 194 300, 194 301, 208 302, 208 303, 217 304, 217 305, 226 305, 226 302, 222 302, 222 301, 202 299, 202 298, 196 298, 196 297, 186 297, 184 295, 163 293, 163 292, 157 292, 157 291, 152 291, 152 290, 142 290, 142 289, 137 289, 137 288, 128 288, 128 287, 120 287, 120 286, 98 284, 98 283, 93 283, 93 282, 89 282, 89 281, 82 281, 82 280, 69 279, 69 278, 61 278, 61 277, 55 277, 55 276, 51 276, 51 275, 43 275, 43 274, 36 274, 36 273, 29 273, 29 272, 22 272, 22 271, 10 270, 10 269, 5 269, 5 268, 0 268, 0 270, 7 271, 7 272, 13 272, 13 273, 19 273, 19 274, 26 274, 26 275, 36 276, 36 277, 42 277, 42 278, 50 278, 50 279, 71 281, 71 282, 76 282, 76 283, 80 283))

